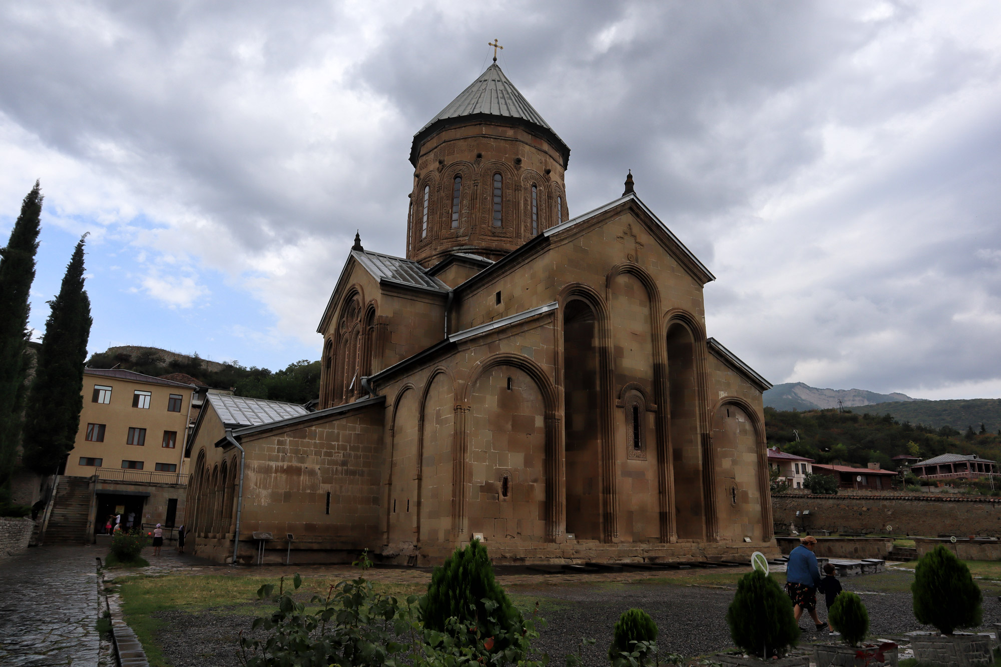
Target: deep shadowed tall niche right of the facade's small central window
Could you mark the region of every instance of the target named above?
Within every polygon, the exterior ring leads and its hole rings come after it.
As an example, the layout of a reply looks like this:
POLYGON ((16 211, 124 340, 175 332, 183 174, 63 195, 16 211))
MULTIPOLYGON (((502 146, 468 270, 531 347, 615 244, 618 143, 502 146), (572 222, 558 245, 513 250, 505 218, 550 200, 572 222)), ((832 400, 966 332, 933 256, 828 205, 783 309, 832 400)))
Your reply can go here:
POLYGON ((675 522, 680 540, 706 539, 704 461, 696 338, 681 317, 668 321, 668 401, 675 488, 675 522))

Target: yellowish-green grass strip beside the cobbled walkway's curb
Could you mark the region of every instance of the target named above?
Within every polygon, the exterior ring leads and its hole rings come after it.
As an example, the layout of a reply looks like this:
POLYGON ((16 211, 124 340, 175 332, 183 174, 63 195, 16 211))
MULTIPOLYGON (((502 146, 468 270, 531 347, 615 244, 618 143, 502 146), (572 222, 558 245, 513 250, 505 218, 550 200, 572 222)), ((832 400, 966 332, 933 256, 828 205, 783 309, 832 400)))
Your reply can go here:
MULTIPOLYGON (((306 577, 295 598, 308 602, 313 595, 325 597, 330 586, 344 579, 342 576, 306 577)), ((210 610, 214 614, 263 616, 269 614, 274 605, 271 600, 258 600, 257 589, 262 584, 274 584, 277 595, 278 582, 279 578, 275 577, 228 575, 136 575, 115 580, 125 621, 142 643, 151 667, 166 667, 157 639, 162 621, 154 617, 156 612, 210 610)), ((291 577, 286 577, 285 586, 290 588, 291 585, 291 577)), ((372 588, 383 595, 405 597, 423 594, 427 587, 426 584, 372 582, 372 588)))

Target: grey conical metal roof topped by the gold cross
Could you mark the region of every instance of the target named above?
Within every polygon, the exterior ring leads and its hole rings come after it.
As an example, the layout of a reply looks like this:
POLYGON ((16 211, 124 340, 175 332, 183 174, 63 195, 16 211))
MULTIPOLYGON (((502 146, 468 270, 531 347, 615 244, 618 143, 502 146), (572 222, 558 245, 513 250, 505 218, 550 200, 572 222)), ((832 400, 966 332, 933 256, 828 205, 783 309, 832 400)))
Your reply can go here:
POLYGON ((410 162, 416 164, 420 144, 438 130, 485 116, 508 118, 513 124, 535 129, 563 153, 564 166, 570 159, 570 148, 564 140, 493 63, 413 135, 410 162))

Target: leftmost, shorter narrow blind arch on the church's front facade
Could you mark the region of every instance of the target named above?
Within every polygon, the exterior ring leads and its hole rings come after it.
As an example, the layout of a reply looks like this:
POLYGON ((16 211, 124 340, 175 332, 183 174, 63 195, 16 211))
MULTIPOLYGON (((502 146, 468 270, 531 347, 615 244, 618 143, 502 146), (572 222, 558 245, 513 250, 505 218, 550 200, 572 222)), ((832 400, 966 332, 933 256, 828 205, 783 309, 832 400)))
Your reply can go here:
POLYGON ((386 494, 387 544, 417 542, 418 397, 407 383, 392 403, 386 494))

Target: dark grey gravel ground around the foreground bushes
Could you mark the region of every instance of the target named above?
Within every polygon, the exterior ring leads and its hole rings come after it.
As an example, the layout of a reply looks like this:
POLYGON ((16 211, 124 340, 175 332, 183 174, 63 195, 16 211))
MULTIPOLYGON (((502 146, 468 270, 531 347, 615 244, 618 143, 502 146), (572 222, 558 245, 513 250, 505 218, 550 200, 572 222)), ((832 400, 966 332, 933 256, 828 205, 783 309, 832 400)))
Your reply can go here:
MULTIPOLYGON (((846 590, 862 593, 869 609, 872 634, 901 635, 914 630, 928 630, 914 620, 909 592, 867 592, 866 578, 843 579, 846 590)), ((585 664, 589 667, 608 664, 608 646, 612 628, 619 615, 632 607, 646 610, 660 629, 661 649, 686 656, 702 655, 731 646, 725 620, 727 607, 734 596, 732 588, 709 588, 643 583, 599 583, 554 586, 540 580, 538 585, 509 586, 511 593, 538 597, 544 604, 542 615, 548 624, 541 631, 540 651, 547 651, 557 667, 564 655, 576 650, 581 637, 598 640, 585 649, 585 664)), ((1001 622, 1001 604, 994 596, 984 599, 984 626, 1001 622)), ((820 603, 820 616, 827 616, 820 603)), ((164 658, 173 667, 235 667, 239 632, 249 632, 253 621, 249 616, 221 615, 212 612, 158 612, 165 621, 160 631, 164 658)), ((803 641, 826 639, 815 633, 809 617, 801 621, 803 641)))

